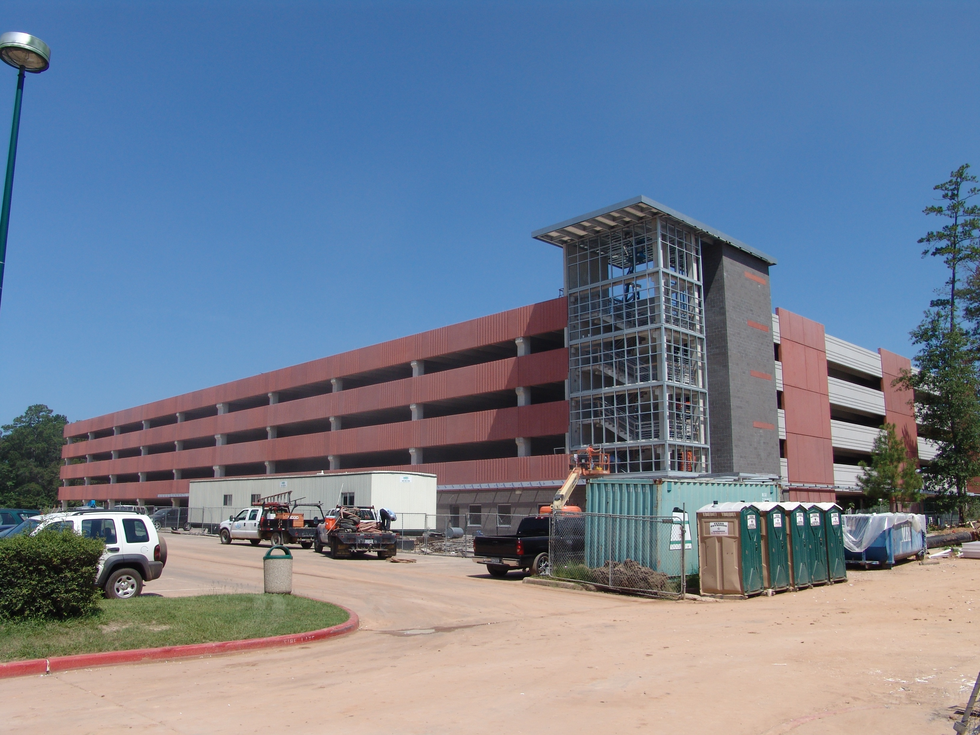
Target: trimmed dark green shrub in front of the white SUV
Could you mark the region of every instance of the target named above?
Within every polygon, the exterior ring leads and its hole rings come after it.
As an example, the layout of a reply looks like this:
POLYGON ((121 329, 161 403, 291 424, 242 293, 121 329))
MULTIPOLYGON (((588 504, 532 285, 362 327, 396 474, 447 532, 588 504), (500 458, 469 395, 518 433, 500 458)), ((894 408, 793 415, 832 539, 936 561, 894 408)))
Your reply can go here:
POLYGON ((72 531, 0 539, 0 620, 64 620, 92 613, 105 544, 72 531))

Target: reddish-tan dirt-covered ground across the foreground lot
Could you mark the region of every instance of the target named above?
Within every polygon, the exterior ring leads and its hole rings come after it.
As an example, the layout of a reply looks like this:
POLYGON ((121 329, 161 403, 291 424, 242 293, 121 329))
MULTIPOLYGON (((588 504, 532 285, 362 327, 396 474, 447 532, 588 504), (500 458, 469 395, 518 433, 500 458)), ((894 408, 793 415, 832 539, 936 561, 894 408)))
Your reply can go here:
MULTIPOLYGON (((145 593, 261 592, 266 545, 168 543, 145 593)), ((468 560, 294 557, 294 591, 356 611, 359 632, 0 680, 3 730, 921 735, 953 732, 947 708, 980 669, 980 561, 698 603, 493 579, 468 560)))

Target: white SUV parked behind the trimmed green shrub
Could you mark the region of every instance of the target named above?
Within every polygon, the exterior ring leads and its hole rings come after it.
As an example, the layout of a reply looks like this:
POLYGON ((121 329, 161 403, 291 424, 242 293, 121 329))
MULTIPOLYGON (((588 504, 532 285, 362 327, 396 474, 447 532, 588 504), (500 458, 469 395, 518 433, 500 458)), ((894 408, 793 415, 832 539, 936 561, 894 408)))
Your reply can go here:
POLYGON ((158 579, 167 564, 167 542, 145 515, 114 511, 69 511, 44 515, 31 535, 45 528, 72 530, 85 538, 102 539, 106 551, 99 560, 95 586, 106 597, 126 600, 143 590, 143 582, 158 579))

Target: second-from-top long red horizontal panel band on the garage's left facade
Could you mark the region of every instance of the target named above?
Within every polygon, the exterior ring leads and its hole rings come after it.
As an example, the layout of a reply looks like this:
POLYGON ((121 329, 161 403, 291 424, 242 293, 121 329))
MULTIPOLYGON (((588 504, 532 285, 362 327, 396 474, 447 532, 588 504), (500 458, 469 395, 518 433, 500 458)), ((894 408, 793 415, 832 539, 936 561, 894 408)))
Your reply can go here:
MULTIPOLYGON (((260 406, 221 416, 198 418, 131 431, 118 436, 76 442, 62 447, 62 457, 73 459, 89 454, 105 454, 113 450, 150 447, 188 439, 213 438, 216 434, 230 434, 331 416, 343 417, 367 411, 408 407, 414 403, 465 398, 499 390, 514 390, 518 386, 562 382, 567 377, 568 351, 551 350, 521 358, 367 385, 339 393, 326 393, 274 406, 260 406)), ((564 431, 567 431, 567 428, 564 431)))

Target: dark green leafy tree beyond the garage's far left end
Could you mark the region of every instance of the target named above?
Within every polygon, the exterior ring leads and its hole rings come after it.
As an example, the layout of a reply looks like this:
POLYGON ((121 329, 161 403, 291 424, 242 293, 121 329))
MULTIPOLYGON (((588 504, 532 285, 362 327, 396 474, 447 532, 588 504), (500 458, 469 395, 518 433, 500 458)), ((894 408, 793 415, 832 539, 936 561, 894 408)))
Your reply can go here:
POLYGON ((51 508, 58 500, 63 430, 68 418, 30 406, 0 433, 0 504, 51 508))

